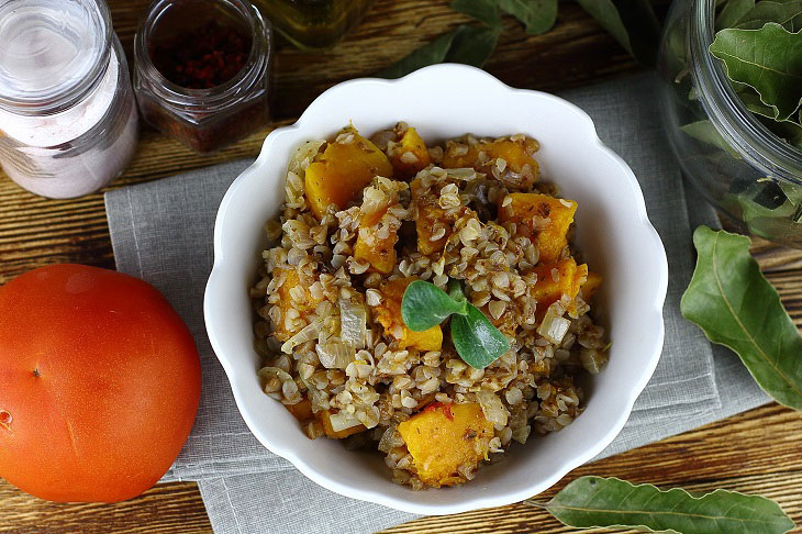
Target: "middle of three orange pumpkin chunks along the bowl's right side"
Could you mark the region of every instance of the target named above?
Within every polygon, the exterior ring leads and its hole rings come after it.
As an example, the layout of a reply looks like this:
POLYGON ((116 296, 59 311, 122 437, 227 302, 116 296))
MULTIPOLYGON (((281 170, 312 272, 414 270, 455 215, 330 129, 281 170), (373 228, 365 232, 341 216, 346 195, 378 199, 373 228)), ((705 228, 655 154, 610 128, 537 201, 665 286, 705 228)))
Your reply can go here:
POLYGON ((532 238, 544 264, 556 262, 568 246, 568 227, 576 212, 575 201, 548 194, 511 193, 499 200, 499 220, 516 223, 517 233, 532 238))

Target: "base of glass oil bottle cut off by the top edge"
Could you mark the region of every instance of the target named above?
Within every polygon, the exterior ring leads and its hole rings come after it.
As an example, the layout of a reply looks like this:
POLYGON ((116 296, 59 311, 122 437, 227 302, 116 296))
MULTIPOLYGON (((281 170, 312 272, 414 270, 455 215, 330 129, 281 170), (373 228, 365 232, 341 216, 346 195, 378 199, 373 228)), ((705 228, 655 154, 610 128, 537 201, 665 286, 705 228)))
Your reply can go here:
POLYGON ((374 0, 254 0, 281 35, 302 49, 328 48, 363 18, 374 0))

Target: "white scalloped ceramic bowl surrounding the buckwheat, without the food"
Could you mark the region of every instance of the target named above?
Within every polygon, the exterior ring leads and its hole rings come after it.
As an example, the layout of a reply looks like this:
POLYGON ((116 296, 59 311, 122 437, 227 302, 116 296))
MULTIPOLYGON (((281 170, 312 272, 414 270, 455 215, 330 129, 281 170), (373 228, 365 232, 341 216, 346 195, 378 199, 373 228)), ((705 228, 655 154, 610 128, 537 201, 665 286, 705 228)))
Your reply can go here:
POLYGON ((667 283, 666 253, 637 180, 601 143, 582 110, 552 94, 512 89, 472 67, 437 65, 399 80, 339 84, 312 102, 297 123, 267 136, 258 159, 220 205, 204 313, 240 411, 265 447, 337 493, 408 512, 447 514, 544 491, 616 436, 660 356, 667 283), (513 445, 503 461, 458 487, 412 491, 398 486, 380 454, 350 453, 332 440, 307 438, 292 415, 259 388, 248 288, 265 245, 263 225, 280 211, 293 151, 308 140, 331 138, 350 121, 367 135, 405 121, 428 142, 466 132, 535 137, 543 177, 579 203, 577 244, 592 270, 604 277, 597 309, 612 348, 608 366, 587 386, 586 411, 560 432, 533 433, 525 445, 513 445))

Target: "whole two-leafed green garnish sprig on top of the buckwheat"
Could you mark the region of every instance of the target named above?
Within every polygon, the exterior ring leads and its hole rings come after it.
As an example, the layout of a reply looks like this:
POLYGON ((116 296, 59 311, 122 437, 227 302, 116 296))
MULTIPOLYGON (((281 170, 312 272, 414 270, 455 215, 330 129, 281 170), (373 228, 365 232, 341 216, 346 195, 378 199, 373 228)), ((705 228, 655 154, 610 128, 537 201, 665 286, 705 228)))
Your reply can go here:
POLYGON ((468 302, 459 280, 448 280, 446 293, 434 283, 415 280, 401 300, 401 319, 413 332, 423 332, 452 318, 452 342, 469 366, 483 369, 510 349, 499 329, 468 302))

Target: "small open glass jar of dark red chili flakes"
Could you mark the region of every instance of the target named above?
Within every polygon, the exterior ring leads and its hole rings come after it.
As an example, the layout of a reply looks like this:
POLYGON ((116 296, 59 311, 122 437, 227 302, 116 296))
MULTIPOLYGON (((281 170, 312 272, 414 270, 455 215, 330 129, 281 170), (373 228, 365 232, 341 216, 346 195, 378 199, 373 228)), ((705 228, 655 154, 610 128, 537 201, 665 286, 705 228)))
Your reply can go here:
POLYGON ((134 38, 142 116, 198 153, 269 119, 272 32, 243 0, 156 0, 134 38))

